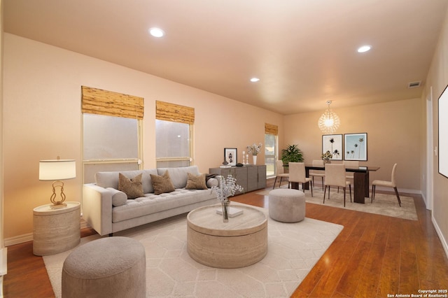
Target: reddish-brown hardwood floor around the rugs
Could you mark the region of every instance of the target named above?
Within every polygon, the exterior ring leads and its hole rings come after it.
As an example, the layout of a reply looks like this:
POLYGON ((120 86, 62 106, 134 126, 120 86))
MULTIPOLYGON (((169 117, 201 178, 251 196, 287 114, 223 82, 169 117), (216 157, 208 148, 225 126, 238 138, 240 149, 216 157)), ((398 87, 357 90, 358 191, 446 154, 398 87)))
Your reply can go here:
MULTIPOLYGON (((448 289, 448 260, 423 199, 414 197, 418 221, 307 203, 307 217, 343 225, 292 297, 388 297, 448 289)), ((267 207, 256 192, 233 197, 267 207)), ((93 234, 83 229, 82 236, 93 234)), ((8 247, 4 297, 54 297, 42 257, 32 242, 8 247)), ((446 292, 444 294, 447 294, 446 292)))

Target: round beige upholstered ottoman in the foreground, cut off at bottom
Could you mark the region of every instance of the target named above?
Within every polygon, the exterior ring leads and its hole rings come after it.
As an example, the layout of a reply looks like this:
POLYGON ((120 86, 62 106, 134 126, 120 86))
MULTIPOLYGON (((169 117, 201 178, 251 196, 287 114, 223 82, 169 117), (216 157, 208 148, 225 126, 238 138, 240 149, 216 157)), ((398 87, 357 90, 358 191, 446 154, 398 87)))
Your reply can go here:
POLYGON ((62 297, 146 297, 144 246, 108 237, 76 248, 62 267, 62 297))

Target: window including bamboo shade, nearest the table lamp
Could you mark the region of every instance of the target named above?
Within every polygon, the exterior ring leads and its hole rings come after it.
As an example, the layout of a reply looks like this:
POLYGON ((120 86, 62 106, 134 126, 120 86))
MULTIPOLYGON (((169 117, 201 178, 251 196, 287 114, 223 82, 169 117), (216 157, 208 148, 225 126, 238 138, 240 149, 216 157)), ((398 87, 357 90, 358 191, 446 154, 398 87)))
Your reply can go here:
POLYGON ((136 170, 141 165, 144 99, 81 87, 83 112, 83 183, 98 171, 136 170))

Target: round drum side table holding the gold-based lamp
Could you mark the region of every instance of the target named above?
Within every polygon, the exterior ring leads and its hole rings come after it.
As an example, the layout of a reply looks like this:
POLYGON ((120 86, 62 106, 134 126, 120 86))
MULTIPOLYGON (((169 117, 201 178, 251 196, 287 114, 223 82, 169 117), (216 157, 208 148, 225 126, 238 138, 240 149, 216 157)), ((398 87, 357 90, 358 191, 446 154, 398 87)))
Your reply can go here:
POLYGON ((33 209, 34 255, 62 253, 80 242, 80 203, 64 203, 64 208, 52 209, 52 204, 46 204, 33 209))

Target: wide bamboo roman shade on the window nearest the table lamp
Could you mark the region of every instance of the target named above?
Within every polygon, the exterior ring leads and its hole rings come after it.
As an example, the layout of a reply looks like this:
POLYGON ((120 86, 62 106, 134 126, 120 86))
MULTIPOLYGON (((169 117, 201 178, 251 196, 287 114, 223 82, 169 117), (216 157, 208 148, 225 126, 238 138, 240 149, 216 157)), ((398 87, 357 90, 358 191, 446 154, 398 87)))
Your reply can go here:
POLYGON ((83 113, 143 119, 144 98, 81 86, 83 113))

